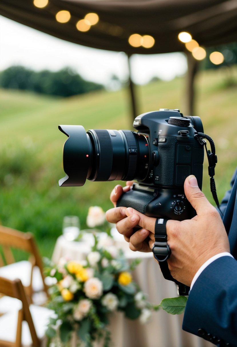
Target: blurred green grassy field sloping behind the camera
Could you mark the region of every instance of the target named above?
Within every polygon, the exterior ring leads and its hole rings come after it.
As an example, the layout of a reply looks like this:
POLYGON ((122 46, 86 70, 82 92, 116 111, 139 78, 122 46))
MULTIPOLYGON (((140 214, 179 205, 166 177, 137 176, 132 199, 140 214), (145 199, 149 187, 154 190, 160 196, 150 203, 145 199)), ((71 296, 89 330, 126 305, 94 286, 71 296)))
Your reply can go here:
MULTIPOLYGON (((231 76, 237 83, 237 67, 232 68, 231 76)), ((204 132, 216 145, 219 199, 229 188, 237 164, 237 87, 228 87, 227 81, 228 71, 219 69, 200 72, 195 84, 195 115, 202 118, 204 132)), ((136 89, 139 113, 185 109, 184 77, 136 89)), ((51 256, 64 215, 79 215, 85 228, 89 206, 110 208, 109 193, 115 185, 87 181, 83 187, 58 186, 58 179, 64 176, 62 147, 66 140, 58 124, 80 124, 86 130, 132 129, 128 90, 98 91, 68 99, 1 90, 0 110, 0 222, 33 232, 41 254, 51 256)), ((213 202, 206 164, 203 191, 213 202)))

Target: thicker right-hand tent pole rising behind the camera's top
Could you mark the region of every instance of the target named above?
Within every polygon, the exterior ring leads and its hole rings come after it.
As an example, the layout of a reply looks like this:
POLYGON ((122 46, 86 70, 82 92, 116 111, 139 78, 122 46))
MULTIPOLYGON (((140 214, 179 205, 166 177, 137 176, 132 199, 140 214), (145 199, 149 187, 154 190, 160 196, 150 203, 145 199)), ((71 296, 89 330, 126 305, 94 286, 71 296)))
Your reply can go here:
POLYGON ((194 102, 195 102, 195 90, 194 90, 194 79, 198 69, 198 61, 194 59, 191 52, 186 52, 188 71, 187 71, 187 100, 186 100, 186 111, 187 115, 193 116, 195 112, 194 102))

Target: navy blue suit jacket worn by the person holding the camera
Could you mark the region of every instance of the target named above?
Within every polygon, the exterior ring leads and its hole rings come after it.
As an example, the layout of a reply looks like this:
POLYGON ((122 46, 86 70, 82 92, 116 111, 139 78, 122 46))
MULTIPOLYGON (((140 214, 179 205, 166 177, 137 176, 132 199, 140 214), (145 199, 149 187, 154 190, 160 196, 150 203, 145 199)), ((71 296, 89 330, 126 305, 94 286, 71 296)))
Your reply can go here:
MULTIPOLYGON (((200 274, 190 291, 183 318, 183 330, 220 346, 237 346, 237 169, 221 210, 230 252, 200 274)), ((211 221, 210 221, 211 222, 211 221)))

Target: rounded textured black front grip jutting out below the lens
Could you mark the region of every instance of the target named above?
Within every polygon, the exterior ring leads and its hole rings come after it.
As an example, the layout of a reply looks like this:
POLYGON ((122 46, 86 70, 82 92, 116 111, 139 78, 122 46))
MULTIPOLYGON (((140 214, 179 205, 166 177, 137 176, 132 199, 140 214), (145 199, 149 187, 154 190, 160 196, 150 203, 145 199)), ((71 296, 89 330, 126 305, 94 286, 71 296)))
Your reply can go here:
POLYGON ((118 199, 116 206, 132 207, 133 209, 146 213, 147 205, 154 199, 153 195, 144 194, 144 192, 130 190, 118 199))

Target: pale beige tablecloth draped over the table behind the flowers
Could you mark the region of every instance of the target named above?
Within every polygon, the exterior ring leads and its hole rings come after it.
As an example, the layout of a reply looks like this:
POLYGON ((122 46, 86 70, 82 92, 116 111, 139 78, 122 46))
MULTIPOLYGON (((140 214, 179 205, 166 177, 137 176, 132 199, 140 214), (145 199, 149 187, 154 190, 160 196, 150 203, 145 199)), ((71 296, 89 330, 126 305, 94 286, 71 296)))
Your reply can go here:
MULTIPOLYGON (((61 257, 71 260, 85 259, 90 251, 92 235, 85 235, 82 242, 67 241, 63 236, 57 239, 52 261, 57 263, 61 257)), ((141 290, 148 294, 148 300, 160 304, 163 298, 177 296, 177 286, 163 278, 160 268, 152 253, 132 252, 128 243, 120 238, 116 246, 122 248, 126 258, 141 259, 133 272, 133 278, 141 290)), ((195 312, 194 312, 195 314, 195 312)), ((111 337, 113 347, 211 347, 210 342, 182 330, 183 315, 171 315, 160 309, 153 313, 147 324, 138 320, 124 318, 122 313, 115 313, 111 318, 111 337)))

